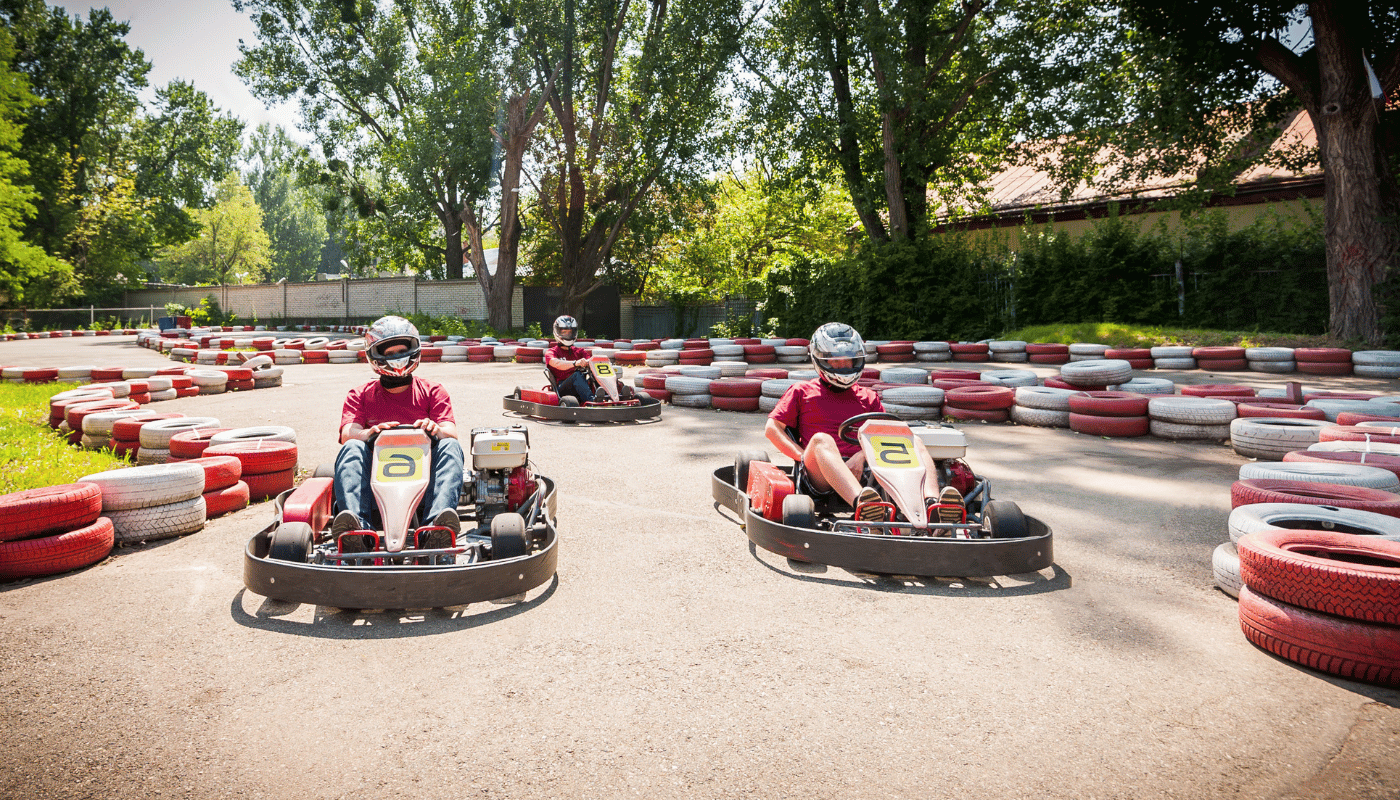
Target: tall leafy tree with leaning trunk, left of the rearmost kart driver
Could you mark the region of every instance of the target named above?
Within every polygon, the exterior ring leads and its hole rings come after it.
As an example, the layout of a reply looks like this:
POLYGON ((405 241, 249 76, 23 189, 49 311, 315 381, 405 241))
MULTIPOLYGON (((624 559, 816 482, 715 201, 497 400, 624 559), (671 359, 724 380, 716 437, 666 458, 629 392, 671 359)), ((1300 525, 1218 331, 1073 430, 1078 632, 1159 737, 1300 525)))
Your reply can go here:
MULTIPOLYGON (((472 1, 237 0, 259 43, 235 71, 258 97, 298 97, 322 143, 325 179, 361 217, 378 217, 449 275, 463 234, 480 240, 493 182, 490 129, 500 102, 500 17, 472 1), (435 219, 438 240, 421 237, 435 219)), ((510 326, 514 275, 477 270, 491 324, 510 326)))

